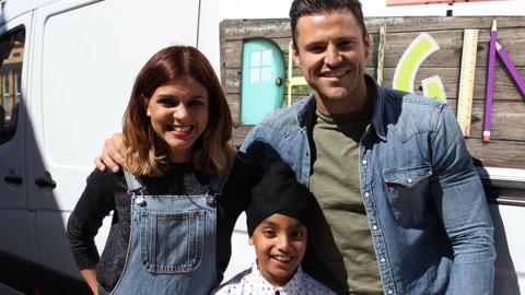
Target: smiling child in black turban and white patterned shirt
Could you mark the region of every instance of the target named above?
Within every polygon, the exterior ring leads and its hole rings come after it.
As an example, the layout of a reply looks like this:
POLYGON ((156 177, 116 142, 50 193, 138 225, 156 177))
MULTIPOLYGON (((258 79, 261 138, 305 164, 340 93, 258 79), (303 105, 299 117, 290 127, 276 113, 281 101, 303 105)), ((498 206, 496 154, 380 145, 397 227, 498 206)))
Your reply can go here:
POLYGON ((257 261, 214 294, 335 294, 300 266, 316 208, 292 169, 282 162, 272 164, 252 190, 246 210, 249 245, 255 246, 257 261))

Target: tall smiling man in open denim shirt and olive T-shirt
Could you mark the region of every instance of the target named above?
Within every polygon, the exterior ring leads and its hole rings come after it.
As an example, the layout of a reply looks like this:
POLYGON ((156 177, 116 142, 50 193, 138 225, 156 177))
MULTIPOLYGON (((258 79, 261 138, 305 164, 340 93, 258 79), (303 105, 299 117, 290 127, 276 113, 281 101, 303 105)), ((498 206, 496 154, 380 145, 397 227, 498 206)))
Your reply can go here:
POLYGON ((294 0, 290 17, 314 92, 241 150, 288 162, 319 202, 304 270, 340 294, 491 294, 493 227, 451 109, 364 74, 358 0, 294 0))

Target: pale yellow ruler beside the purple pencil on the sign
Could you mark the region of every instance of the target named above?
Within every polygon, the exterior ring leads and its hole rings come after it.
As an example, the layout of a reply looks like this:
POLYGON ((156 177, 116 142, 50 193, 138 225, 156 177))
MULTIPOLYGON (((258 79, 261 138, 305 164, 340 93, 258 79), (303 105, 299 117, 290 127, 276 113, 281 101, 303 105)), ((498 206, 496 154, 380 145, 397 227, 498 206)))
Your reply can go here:
POLYGON ((456 118, 464 137, 470 135, 472 116, 474 80, 478 54, 478 30, 465 30, 463 36, 462 70, 457 94, 456 118))

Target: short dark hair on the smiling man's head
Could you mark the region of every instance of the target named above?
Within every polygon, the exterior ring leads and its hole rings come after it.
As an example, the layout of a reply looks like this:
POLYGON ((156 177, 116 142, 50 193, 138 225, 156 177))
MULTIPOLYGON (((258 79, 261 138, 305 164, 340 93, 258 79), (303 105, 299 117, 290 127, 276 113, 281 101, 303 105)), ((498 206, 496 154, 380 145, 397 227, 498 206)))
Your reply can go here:
POLYGON ((290 24, 292 28, 293 47, 298 49, 298 38, 295 27, 298 20, 305 15, 318 15, 327 12, 334 12, 348 9, 361 26, 363 38, 366 37, 366 26, 364 25, 363 11, 359 0, 293 0, 290 8, 290 24))

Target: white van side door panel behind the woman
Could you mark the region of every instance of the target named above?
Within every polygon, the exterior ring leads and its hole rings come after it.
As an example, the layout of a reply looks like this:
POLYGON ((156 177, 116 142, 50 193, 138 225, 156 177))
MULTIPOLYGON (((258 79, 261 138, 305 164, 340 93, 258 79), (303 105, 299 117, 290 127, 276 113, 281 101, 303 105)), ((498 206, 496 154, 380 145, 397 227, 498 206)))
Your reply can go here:
POLYGON ((121 130, 145 61, 168 45, 196 46, 198 12, 199 1, 164 0, 62 0, 35 12, 27 189, 40 264, 78 278, 65 228, 93 158, 121 130))

